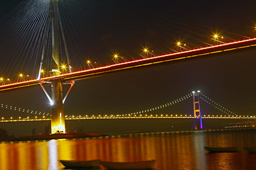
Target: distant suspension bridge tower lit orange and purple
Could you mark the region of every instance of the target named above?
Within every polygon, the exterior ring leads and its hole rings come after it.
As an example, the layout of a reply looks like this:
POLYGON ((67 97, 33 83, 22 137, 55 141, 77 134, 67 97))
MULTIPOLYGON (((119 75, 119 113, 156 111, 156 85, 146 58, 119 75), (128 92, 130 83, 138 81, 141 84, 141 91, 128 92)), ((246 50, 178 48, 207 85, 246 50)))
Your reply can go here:
POLYGON ((198 130, 203 129, 203 121, 201 116, 201 110, 200 110, 200 103, 199 103, 199 94, 200 91, 193 91, 193 111, 194 111, 194 129, 198 130))

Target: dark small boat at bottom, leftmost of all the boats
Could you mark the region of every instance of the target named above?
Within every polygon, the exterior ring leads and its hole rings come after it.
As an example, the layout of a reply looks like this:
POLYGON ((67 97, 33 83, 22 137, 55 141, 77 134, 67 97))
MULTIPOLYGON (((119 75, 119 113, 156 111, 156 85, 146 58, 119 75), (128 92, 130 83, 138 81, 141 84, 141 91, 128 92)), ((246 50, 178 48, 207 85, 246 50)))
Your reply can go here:
POLYGON ((66 167, 66 168, 96 168, 99 167, 101 164, 100 159, 95 159, 91 161, 66 161, 66 160, 60 160, 60 162, 66 167))

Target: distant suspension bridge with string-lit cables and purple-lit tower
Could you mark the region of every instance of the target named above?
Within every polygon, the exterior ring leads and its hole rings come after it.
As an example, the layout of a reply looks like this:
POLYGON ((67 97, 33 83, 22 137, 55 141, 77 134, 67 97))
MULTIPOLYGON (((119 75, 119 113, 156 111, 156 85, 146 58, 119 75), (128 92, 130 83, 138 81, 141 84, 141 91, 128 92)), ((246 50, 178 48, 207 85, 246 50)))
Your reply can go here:
MULTIPOLYGON (((192 102, 191 102, 192 103, 192 102)), ((44 113, 41 111, 32 111, 24 108, 17 108, 15 106, 8 106, 1 104, 1 108, 5 108, 6 110, 13 110, 18 113, 27 113, 28 116, 11 116, 9 118, 2 117, 0 119, 1 123, 15 123, 15 122, 31 122, 31 121, 50 121, 50 113, 44 113), (32 116, 31 116, 32 115, 32 116)), ((65 115, 65 120, 109 120, 109 119, 193 119, 194 120, 194 128, 203 129, 203 119, 249 119, 255 120, 255 115, 238 115, 233 113, 228 108, 221 106, 219 103, 216 103, 212 99, 208 98, 208 96, 201 93, 201 91, 193 91, 191 94, 187 94, 182 96, 181 98, 177 98, 174 101, 170 101, 169 103, 164 103, 160 106, 155 106, 152 108, 147 108, 143 111, 137 111, 134 113, 127 114, 102 114, 102 115, 65 115), (188 99, 193 98, 193 111, 194 113, 191 115, 186 114, 156 114, 153 112, 161 111, 163 108, 175 106, 177 103, 182 103, 182 101, 186 101, 188 99), (200 103, 207 103, 209 106, 212 106, 216 110, 218 110, 221 114, 216 115, 207 115, 201 113, 200 103)))

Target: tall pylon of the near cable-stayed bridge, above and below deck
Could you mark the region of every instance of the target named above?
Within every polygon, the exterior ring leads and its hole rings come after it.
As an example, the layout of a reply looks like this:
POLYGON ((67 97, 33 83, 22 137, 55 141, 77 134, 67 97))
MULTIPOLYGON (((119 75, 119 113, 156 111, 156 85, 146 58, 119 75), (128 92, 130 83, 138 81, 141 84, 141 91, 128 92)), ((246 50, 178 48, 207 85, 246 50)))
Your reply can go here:
MULTIPOLYGON (((52 34, 52 70, 53 76, 60 74, 60 40, 58 31, 58 0, 50 0, 50 18, 52 34)), ((63 104, 63 82, 61 79, 50 82, 52 92, 51 133, 65 132, 65 113, 63 104)))

